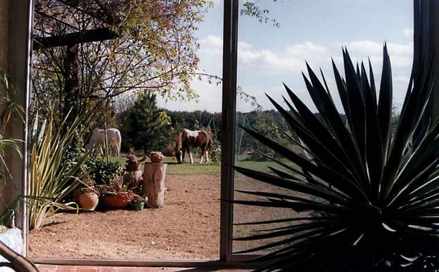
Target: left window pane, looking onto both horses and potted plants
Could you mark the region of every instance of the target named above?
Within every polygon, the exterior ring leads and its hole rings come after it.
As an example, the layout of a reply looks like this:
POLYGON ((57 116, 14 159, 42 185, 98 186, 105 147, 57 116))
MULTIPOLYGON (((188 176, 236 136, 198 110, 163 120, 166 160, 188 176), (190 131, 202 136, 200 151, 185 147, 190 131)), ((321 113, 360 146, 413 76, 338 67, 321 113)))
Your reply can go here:
POLYGON ((37 171, 44 167, 35 170, 41 176, 32 176, 33 184, 56 179, 58 189, 34 193, 63 205, 32 201, 41 210, 32 210, 30 257, 218 259, 222 3, 101 2, 41 0, 35 7, 32 121, 44 128, 42 120, 53 116, 52 130, 58 132, 66 118, 69 125, 61 128, 62 137, 74 127, 76 116, 82 119, 65 153, 46 149, 49 155, 61 154, 55 169, 55 163, 46 166, 62 178, 75 179, 62 184, 58 176, 48 177, 50 171, 37 171), (120 134, 109 130, 113 128, 120 134), (201 132, 182 135, 184 129, 207 132, 201 139, 201 132), (198 163, 203 153, 195 144, 193 164, 189 154, 185 163, 177 163, 176 148, 182 151, 195 137, 212 147, 210 162, 204 156, 203 164, 198 163), (86 150, 93 148, 88 157, 86 150), (118 166, 136 168, 151 151, 166 156, 166 175, 163 164, 150 162, 151 155, 144 162, 148 168, 141 165, 121 179, 118 166), (83 158, 86 170, 70 173, 83 158), (147 176, 148 184, 156 186, 146 188, 147 176), (77 190, 71 185, 77 180, 82 191, 75 197, 68 191, 77 190), (79 194, 94 191, 101 194, 95 211, 77 213, 77 203, 84 208, 79 194), (165 199, 163 208, 148 208, 160 202, 153 199, 157 195, 165 199), (116 196, 127 196, 122 205, 131 200, 132 207, 115 208, 116 196), (139 196, 149 199, 137 211, 143 201, 139 196), (68 206, 68 211, 58 210, 68 206))

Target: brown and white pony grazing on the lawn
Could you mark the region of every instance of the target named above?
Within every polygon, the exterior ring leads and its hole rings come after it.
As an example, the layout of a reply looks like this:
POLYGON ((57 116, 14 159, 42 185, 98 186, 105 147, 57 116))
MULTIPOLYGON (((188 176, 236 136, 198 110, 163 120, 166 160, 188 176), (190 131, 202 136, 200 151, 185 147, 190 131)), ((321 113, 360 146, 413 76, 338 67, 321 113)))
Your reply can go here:
POLYGON ((192 131, 184 128, 184 130, 179 133, 177 143, 175 144, 175 157, 178 163, 184 163, 184 154, 186 151, 189 153, 191 163, 193 163, 193 147, 201 148, 200 163, 203 163, 204 156, 206 157, 205 162, 208 163, 210 149, 212 149, 212 137, 210 137, 210 133, 204 130, 192 131))

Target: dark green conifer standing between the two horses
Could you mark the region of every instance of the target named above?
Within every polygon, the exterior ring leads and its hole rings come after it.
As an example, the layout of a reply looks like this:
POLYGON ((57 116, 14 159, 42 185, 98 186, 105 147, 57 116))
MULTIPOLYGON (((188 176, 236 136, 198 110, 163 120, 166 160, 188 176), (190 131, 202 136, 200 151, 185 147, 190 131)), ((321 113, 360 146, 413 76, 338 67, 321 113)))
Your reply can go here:
POLYGON ((170 143, 170 117, 158 109, 156 95, 140 95, 132 107, 122 114, 122 147, 161 151, 170 143), (125 116, 124 116, 125 115, 125 116))

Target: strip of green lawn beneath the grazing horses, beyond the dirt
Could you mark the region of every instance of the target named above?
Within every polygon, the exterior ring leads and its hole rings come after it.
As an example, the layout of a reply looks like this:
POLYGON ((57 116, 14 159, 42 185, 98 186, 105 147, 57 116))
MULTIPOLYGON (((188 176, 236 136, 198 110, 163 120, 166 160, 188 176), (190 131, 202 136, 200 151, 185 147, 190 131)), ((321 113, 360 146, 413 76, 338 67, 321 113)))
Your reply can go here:
MULTIPOLYGON (((111 157, 110 161, 115 161, 119 163, 120 166, 125 166, 125 157, 111 157)), ((196 163, 182 163, 178 164, 172 158, 166 158, 165 163, 167 163, 167 174, 177 174, 177 175, 220 175, 221 163, 198 163, 198 158, 195 159, 196 163)), ((288 165, 293 165, 293 163, 284 161, 288 165)), ((272 161, 238 161, 236 165, 243 168, 250 168, 253 170, 258 170, 262 172, 267 172, 269 169, 267 166, 272 166, 275 168, 281 168, 277 163, 272 161)))

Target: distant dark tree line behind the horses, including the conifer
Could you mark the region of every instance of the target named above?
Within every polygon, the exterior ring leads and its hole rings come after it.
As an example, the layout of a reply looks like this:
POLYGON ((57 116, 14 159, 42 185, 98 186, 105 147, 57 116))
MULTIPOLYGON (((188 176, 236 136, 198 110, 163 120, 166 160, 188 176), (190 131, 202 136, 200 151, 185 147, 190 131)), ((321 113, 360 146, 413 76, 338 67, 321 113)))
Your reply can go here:
MULTIPOLYGON (((284 118, 281 118, 278 111, 250 111, 245 114, 238 111, 236 112, 236 124, 263 132, 282 144, 291 144, 291 140, 288 140, 288 124, 284 118)), ((166 156, 173 156, 178 133, 184 128, 209 130, 212 137, 216 140, 221 139, 220 114, 212 114, 209 111, 160 109, 157 106, 156 96, 151 93, 125 100, 124 104, 118 107, 113 120, 108 122, 108 127, 120 130, 122 152, 162 151, 166 156)), ((241 128, 236 128, 236 152, 241 154, 240 156, 262 158, 255 150, 269 153, 269 150, 265 149, 249 135, 243 133, 241 128)), ((269 155, 275 156, 275 154, 269 155)))

